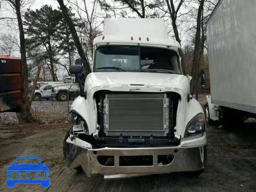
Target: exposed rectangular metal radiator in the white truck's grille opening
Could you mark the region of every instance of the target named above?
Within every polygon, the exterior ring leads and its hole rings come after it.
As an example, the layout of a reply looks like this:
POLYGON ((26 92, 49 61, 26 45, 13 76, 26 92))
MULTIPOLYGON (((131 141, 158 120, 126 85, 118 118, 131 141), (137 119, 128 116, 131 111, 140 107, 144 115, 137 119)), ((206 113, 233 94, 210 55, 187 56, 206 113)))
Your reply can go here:
POLYGON ((104 128, 108 136, 166 136, 169 101, 166 94, 108 94, 104 128))

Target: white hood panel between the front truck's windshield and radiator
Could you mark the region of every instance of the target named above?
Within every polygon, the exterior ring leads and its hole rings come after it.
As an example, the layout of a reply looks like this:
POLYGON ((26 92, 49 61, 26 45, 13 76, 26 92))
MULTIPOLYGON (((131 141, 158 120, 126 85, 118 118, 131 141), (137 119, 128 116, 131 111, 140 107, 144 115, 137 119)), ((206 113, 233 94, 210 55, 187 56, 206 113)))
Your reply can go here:
POLYGON ((184 75, 147 72, 92 72, 88 75, 94 87, 111 85, 150 85, 179 88, 190 92, 190 82, 184 75))

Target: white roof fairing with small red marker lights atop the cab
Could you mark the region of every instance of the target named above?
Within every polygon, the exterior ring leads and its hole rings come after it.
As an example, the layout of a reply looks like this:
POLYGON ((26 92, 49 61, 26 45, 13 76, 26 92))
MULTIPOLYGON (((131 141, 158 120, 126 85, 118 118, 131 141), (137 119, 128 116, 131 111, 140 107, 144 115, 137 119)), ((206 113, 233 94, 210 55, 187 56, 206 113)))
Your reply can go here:
POLYGON ((105 20, 104 40, 102 36, 94 39, 94 44, 105 42, 154 44, 180 48, 176 40, 168 39, 166 26, 162 19, 108 18, 105 20))

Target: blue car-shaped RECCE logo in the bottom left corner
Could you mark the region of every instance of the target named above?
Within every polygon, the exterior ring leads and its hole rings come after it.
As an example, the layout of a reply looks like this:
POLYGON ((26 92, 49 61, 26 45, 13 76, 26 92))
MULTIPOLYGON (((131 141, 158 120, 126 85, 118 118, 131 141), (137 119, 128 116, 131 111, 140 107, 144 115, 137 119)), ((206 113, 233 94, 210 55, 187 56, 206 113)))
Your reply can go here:
POLYGON ((49 169, 43 164, 38 157, 18 157, 14 163, 6 169, 7 187, 14 187, 15 184, 40 184, 42 187, 50 186, 48 178, 49 169), (24 163, 24 162, 33 163, 24 163))

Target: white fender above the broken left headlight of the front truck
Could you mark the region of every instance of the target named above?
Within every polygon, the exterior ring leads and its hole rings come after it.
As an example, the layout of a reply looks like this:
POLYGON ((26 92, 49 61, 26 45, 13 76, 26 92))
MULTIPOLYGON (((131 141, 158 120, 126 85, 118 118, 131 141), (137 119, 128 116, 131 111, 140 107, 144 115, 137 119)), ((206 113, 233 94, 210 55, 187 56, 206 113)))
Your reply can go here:
POLYGON ((72 112, 77 113, 84 119, 84 122, 88 127, 89 134, 95 131, 95 129, 92 129, 90 126, 90 106, 88 100, 84 97, 78 96, 70 107, 70 113, 72 112))

